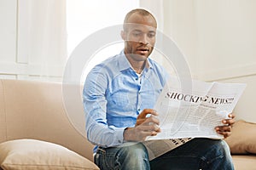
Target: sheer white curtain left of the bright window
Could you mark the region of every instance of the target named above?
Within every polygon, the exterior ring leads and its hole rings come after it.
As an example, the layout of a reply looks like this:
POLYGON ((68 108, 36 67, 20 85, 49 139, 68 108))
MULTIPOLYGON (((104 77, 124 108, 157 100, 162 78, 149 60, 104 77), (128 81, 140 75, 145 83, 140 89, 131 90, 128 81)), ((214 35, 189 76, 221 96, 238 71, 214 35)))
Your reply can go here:
POLYGON ((30 79, 61 81, 67 59, 66 1, 19 0, 17 62, 30 79))

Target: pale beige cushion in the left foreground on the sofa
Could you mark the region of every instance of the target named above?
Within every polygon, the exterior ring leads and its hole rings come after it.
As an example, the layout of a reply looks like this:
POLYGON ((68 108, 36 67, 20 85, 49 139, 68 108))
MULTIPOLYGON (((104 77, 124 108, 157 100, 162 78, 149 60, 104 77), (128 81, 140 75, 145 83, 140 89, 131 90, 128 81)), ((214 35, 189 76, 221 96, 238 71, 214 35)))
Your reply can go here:
POLYGON ((35 139, 17 139, 0 144, 0 165, 4 170, 99 169, 79 154, 60 144, 35 139))

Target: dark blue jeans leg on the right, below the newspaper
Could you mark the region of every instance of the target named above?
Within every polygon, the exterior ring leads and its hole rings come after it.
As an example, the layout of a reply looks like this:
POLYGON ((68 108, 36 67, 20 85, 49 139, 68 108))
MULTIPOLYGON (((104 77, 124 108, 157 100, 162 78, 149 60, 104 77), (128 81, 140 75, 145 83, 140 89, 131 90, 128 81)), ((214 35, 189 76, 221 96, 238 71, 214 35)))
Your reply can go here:
POLYGON ((177 149, 155 158, 150 162, 151 169, 234 169, 229 146, 224 140, 192 139, 177 149))

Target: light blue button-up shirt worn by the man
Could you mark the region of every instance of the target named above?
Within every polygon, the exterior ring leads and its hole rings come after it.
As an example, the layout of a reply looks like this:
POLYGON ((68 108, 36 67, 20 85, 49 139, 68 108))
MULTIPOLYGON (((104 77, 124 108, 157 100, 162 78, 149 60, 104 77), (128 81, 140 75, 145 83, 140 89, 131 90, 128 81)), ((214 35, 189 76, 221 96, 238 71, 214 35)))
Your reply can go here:
POLYGON ((134 127, 143 109, 153 109, 167 73, 148 59, 141 77, 124 51, 96 65, 84 82, 87 138, 102 147, 124 143, 125 127, 134 127))

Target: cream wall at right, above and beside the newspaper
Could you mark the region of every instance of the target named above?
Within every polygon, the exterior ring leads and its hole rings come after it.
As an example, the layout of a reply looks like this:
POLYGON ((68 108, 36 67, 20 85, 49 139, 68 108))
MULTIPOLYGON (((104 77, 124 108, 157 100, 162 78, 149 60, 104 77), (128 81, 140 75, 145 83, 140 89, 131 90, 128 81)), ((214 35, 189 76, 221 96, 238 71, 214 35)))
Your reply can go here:
POLYGON ((196 1, 199 77, 206 81, 243 82, 237 119, 256 122, 256 1, 196 1))

